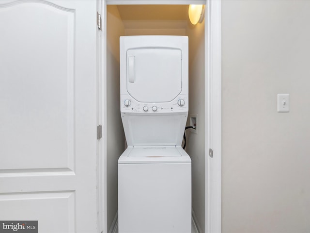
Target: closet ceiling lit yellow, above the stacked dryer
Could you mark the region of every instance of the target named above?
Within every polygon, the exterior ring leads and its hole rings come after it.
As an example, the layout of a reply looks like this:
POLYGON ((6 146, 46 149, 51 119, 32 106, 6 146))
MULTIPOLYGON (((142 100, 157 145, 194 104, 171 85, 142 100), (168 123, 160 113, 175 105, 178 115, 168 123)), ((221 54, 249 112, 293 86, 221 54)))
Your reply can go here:
POLYGON ((118 5, 123 20, 187 20, 188 5, 118 5))

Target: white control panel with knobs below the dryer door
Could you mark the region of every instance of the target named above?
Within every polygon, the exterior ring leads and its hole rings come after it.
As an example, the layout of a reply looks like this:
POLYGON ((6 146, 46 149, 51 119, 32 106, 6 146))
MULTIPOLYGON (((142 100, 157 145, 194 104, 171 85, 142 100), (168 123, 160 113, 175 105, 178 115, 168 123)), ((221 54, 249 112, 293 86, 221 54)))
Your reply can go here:
POLYGON ((180 113, 188 111, 188 95, 179 95, 171 102, 139 102, 130 95, 121 95, 123 113, 180 113))

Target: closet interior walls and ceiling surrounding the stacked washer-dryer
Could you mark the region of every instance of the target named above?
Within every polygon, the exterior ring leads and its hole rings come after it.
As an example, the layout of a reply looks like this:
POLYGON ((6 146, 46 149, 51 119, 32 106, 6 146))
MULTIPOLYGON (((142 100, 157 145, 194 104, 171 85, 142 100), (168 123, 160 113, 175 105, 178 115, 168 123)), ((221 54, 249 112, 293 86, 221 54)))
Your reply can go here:
MULTIPOLYGON (((204 22, 192 25, 188 5, 107 5, 107 228, 117 214, 117 160, 125 149, 120 116, 119 37, 187 35, 189 39, 189 115, 198 114, 198 134, 186 132, 192 159, 192 209, 200 232, 205 219, 204 22)), ((189 124, 189 123, 188 123, 189 124)))

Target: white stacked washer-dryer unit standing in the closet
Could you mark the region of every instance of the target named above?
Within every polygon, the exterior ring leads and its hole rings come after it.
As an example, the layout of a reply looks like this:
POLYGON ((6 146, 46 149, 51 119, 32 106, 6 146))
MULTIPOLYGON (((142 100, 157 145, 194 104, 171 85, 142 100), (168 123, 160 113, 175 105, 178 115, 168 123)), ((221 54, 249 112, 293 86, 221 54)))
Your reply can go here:
POLYGON ((119 233, 190 233, 187 36, 122 36, 120 86, 119 233))

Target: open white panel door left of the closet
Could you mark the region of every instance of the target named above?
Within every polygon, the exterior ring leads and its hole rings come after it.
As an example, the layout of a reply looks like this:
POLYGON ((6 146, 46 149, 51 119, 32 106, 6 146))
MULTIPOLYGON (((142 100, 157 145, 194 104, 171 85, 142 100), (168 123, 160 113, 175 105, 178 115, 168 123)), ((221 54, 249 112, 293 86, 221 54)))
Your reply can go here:
POLYGON ((0 220, 94 233, 96 1, 0 1, 0 220))

